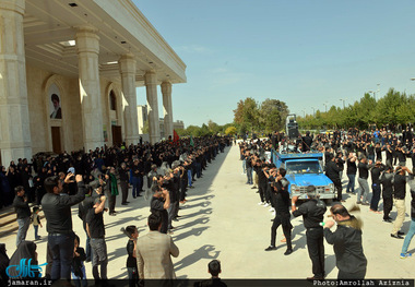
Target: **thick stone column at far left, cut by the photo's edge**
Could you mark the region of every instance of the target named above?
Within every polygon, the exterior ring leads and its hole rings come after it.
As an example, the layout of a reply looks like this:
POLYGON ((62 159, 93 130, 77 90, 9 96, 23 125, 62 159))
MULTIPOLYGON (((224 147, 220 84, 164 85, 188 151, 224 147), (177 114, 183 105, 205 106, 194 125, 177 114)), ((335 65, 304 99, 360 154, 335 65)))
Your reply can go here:
POLYGON ((32 157, 23 15, 25 0, 0 2, 0 150, 2 165, 32 157))

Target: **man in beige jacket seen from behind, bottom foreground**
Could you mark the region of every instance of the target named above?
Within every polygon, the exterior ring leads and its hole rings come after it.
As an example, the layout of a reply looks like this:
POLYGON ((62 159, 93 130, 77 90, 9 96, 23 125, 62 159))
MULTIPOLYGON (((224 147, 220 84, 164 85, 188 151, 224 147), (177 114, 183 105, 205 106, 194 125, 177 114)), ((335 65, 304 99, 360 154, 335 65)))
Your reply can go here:
POLYGON ((179 249, 170 236, 159 232, 162 217, 157 213, 149 216, 150 231, 137 240, 137 263, 140 279, 175 279, 171 256, 179 255, 179 249))

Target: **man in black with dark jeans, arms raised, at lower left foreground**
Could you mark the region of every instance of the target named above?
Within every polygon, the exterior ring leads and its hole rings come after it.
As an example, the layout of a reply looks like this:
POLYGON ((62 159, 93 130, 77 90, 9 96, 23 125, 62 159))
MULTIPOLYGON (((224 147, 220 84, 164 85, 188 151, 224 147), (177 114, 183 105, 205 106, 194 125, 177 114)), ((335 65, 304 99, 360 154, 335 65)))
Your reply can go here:
MULTIPOLYGON (((67 179, 73 175, 68 174, 67 179)), ((48 247, 50 248, 54 264, 51 279, 70 279, 73 259, 74 234, 72 231, 71 206, 85 199, 85 187, 82 176, 76 175, 78 193, 61 196, 62 182, 58 177, 45 179, 46 194, 42 199, 42 208, 47 220, 48 247)))

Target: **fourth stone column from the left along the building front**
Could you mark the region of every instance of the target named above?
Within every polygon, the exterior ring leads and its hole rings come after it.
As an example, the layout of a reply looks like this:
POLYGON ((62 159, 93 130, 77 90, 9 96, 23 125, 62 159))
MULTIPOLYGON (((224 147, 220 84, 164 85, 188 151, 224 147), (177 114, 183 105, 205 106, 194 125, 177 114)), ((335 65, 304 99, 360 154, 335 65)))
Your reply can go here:
POLYGON ((157 76, 153 71, 149 71, 144 75, 146 94, 147 94, 147 121, 150 143, 155 144, 159 141, 159 123, 158 123, 158 103, 157 103, 157 76))

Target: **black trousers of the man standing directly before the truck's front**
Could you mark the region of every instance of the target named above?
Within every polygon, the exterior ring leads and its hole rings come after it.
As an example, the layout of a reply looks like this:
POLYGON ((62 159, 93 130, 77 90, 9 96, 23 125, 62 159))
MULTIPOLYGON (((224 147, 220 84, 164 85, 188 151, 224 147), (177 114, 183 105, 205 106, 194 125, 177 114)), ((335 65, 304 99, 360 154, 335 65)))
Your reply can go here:
POLYGON ((307 249, 315 277, 324 277, 324 234, 323 228, 307 228, 307 249))

